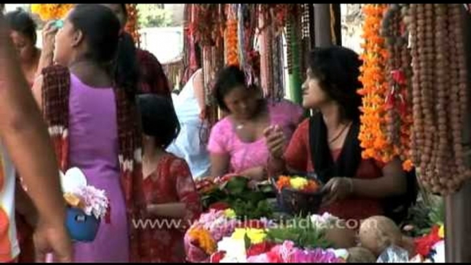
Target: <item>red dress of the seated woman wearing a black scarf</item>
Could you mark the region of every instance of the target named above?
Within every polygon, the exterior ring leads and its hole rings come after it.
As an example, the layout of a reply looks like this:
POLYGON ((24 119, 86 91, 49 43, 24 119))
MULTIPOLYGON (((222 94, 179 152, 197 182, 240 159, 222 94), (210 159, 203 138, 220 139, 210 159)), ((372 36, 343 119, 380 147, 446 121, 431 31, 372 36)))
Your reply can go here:
MULTIPOLYGON (((341 150, 332 150, 334 160, 338 158, 341 150)), ((312 165, 311 150, 309 145, 309 119, 305 119, 292 135, 292 139, 284 153, 286 165, 292 170, 299 172, 314 172, 312 165)), ((358 166, 354 178, 379 178, 382 176, 383 163, 372 159, 363 159, 358 166)), ((370 216, 383 214, 380 200, 374 198, 347 198, 328 207, 320 209, 323 213, 327 211, 334 216, 345 220, 363 220, 370 216)))

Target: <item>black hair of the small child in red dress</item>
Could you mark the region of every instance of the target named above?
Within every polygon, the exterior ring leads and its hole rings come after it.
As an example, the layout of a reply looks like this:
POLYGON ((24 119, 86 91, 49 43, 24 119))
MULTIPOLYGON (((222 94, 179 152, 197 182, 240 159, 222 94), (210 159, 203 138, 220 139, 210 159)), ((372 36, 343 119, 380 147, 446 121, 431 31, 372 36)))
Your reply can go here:
POLYGON ((137 96, 142 132, 156 139, 157 147, 168 148, 180 133, 172 99, 154 94, 137 96))

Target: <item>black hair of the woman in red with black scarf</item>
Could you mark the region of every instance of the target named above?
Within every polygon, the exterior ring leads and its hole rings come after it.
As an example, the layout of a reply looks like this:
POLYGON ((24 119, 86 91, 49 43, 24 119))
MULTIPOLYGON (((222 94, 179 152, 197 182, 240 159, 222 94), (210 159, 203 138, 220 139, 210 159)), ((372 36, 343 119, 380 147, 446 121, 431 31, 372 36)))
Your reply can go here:
POLYGON ((317 48, 311 51, 308 63, 321 89, 341 106, 343 117, 358 122, 361 96, 357 90, 362 87, 358 54, 341 46, 317 48))

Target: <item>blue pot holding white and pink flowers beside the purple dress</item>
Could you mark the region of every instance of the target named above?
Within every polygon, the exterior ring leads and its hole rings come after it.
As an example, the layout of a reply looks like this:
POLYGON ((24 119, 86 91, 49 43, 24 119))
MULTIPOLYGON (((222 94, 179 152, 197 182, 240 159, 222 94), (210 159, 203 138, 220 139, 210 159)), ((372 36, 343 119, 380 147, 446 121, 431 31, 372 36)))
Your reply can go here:
POLYGON ((95 240, 100 220, 108 211, 108 198, 104 190, 87 185, 87 178, 78 168, 60 172, 62 192, 67 203, 67 229, 73 240, 95 240))

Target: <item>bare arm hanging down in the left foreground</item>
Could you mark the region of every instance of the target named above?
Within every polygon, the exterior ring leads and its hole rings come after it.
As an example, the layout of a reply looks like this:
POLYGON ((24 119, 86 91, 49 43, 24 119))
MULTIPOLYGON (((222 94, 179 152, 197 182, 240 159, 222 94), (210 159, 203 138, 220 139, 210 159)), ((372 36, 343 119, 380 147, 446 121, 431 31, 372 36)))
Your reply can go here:
POLYGON ((54 252, 58 261, 70 262, 71 242, 65 229, 56 154, 30 87, 21 71, 0 14, 0 138, 38 209, 35 245, 38 261, 54 252))

